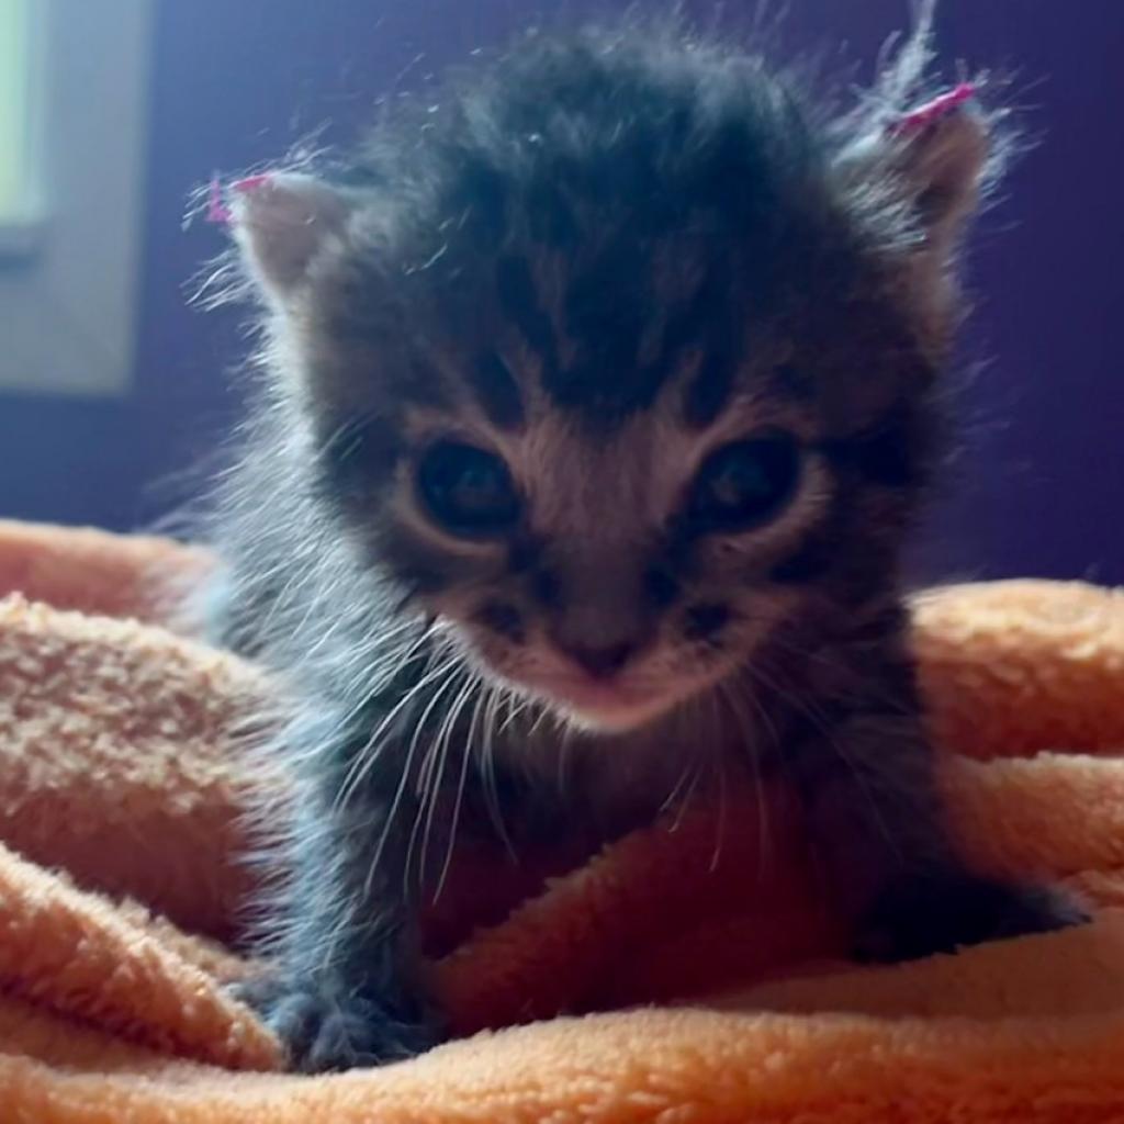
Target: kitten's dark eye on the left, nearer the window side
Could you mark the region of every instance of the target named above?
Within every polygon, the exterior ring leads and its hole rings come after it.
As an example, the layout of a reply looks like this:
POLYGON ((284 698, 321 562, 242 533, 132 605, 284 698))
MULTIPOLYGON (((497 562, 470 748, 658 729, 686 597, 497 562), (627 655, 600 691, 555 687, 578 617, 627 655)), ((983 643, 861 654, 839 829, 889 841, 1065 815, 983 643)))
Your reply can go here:
POLYGON ((434 519, 454 535, 499 534, 519 517, 507 465, 473 445, 434 445, 418 465, 417 489, 434 519))

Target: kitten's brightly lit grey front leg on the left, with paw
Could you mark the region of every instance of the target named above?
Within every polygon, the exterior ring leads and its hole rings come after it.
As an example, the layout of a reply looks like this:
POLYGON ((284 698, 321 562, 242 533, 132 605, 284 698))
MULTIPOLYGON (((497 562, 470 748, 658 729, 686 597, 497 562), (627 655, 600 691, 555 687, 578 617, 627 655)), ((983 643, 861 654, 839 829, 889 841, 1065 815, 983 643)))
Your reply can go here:
POLYGON ((405 874, 401 825, 414 817, 378 780, 343 808, 338 796, 330 770, 298 777, 299 806, 272 854, 281 885, 263 934, 271 969, 239 990, 303 1072, 383 1064, 441 1037, 405 874))

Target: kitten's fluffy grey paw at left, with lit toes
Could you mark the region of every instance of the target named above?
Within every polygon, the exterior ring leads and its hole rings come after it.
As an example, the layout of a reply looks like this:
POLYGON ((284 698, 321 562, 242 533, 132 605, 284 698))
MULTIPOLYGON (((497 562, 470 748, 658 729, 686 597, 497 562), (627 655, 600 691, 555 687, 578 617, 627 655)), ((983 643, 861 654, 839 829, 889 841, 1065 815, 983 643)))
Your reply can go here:
POLYGON ((300 1073, 402 1061, 441 1037, 423 1017, 402 1016, 377 999, 334 987, 255 980, 235 988, 235 996, 277 1034, 289 1068, 300 1073))

